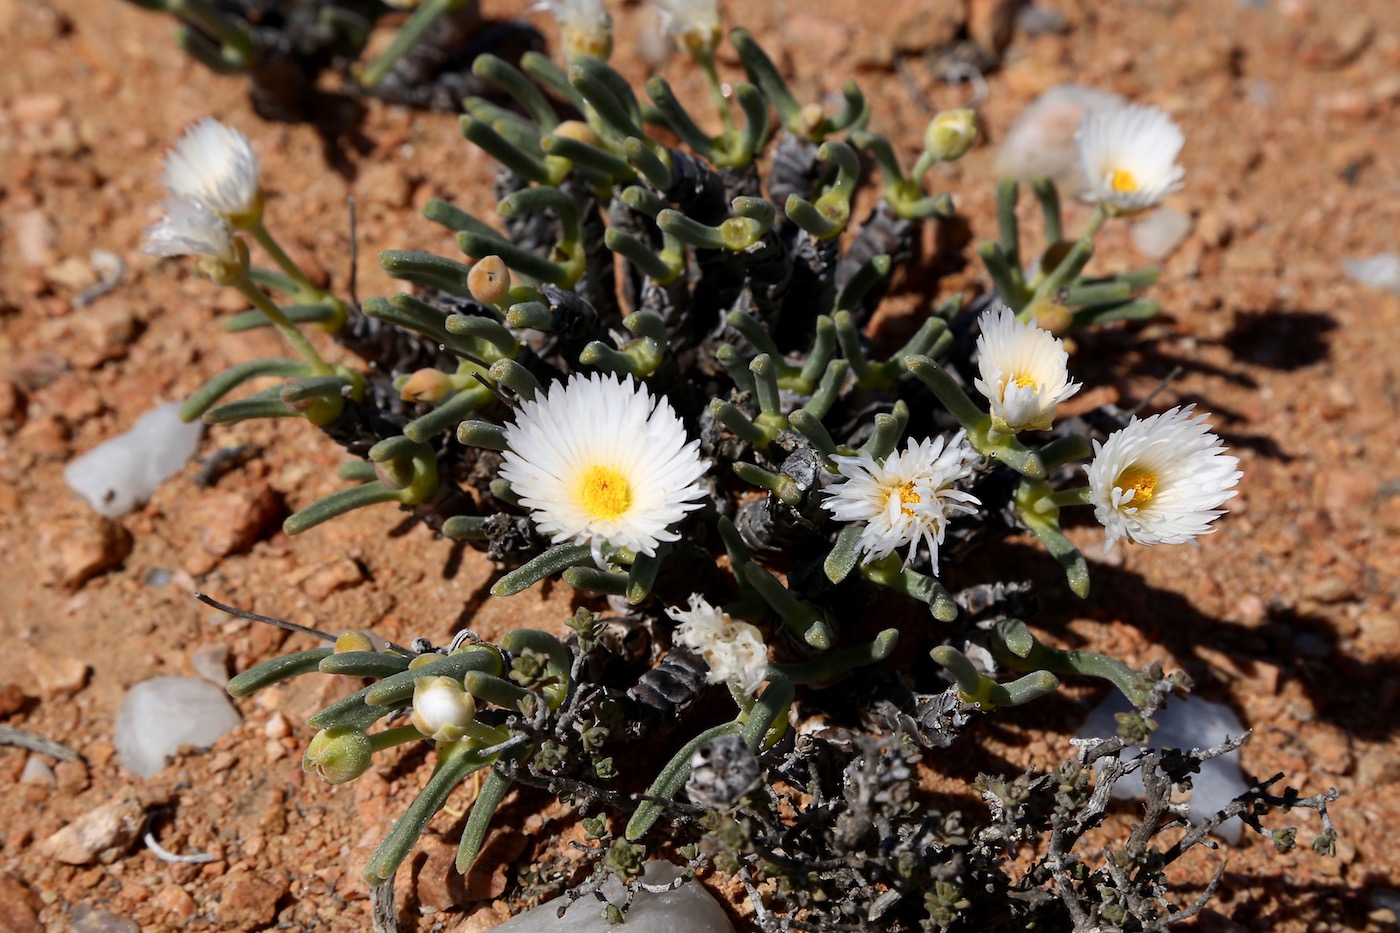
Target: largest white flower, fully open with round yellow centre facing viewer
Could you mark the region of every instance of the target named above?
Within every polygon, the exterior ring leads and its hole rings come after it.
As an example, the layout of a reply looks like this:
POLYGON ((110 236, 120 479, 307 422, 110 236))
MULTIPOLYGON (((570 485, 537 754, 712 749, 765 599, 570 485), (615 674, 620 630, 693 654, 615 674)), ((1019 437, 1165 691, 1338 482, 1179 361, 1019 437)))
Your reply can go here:
POLYGON ((664 398, 631 377, 568 377, 524 402, 505 429, 500 476, 556 544, 654 555, 671 525, 701 506, 700 441, 664 398))

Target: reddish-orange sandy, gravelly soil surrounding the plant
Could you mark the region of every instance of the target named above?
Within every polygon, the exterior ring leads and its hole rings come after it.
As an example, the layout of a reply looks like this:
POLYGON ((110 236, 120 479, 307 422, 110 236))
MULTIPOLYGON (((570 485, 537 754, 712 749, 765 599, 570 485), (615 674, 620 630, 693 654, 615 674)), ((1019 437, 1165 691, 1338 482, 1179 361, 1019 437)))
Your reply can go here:
MULTIPOLYGON (((522 6, 484 4, 489 15, 522 6)), ((1257 838, 1201 852, 1186 873, 1197 883, 1219 859, 1229 867, 1198 929, 1394 929, 1400 298, 1352 284, 1341 259, 1400 244, 1400 6, 1047 6, 1064 13, 1068 31, 1015 38, 988 76, 990 144, 952 167, 946 188, 977 237, 988 235, 990 146, 1057 83, 1170 109, 1189 141, 1187 185, 1169 205, 1194 227, 1152 291, 1166 315, 1085 339, 1078 374, 1091 382, 1086 398, 1131 406, 1183 367, 1154 403, 1196 401, 1214 412, 1245 481, 1201 548, 1120 549, 1093 565, 1089 601, 1056 605, 1040 625, 1063 643, 1184 668, 1201 695, 1254 727, 1246 770, 1281 770, 1305 793, 1344 792, 1333 811, 1336 859, 1277 856, 1257 838)), ((928 119, 924 101, 944 108, 965 98, 918 57, 903 76, 889 67, 897 42, 931 41, 900 25, 907 15, 934 29, 916 4, 890 6, 876 25, 864 20, 869 6, 851 0, 820 11, 797 0, 728 8, 731 22, 777 53, 804 99, 858 77, 878 129, 906 148, 928 119)), ((640 15, 629 8, 619 21, 617 64, 640 78, 640 15)), ((452 195, 484 210, 490 163, 448 115, 371 104, 357 125, 332 112, 319 127, 260 122, 239 80, 185 60, 167 21, 116 0, 0 0, 0 720, 85 759, 55 768, 53 783, 21 783, 27 752, 0 748, 0 930, 69 929, 84 908, 150 930, 367 929, 358 873, 421 782, 421 755, 340 789, 305 779, 304 719, 340 689, 321 678, 242 702, 244 724, 214 749, 143 782, 113 759, 125 689, 192 672, 196 653, 218 663, 227 649, 227 664, 241 670, 283 646, 276 630, 206 611, 190 598, 196 587, 326 629, 435 642, 468 621, 487 637, 522 622, 559 629, 568 588, 490 600, 484 559, 423 528, 395 531, 400 517, 388 507, 287 538, 280 517, 333 489, 340 458, 300 423, 209 431, 203 454, 249 444, 256 457, 210 489, 192 482, 192 465, 116 523, 70 495, 60 469, 155 403, 276 352, 270 336, 221 335, 217 319, 239 310, 235 296, 139 254, 161 196, 160 153, 186 123, 214 115, 253 139, 269 223, 337 286, 349 266, 347 195, 358 199, 365 255, 386 247, 452 255, 416 209, 452 195), (76 308, 94 279, 92 249, 118 254, 127 273, 76 308), (109 864, 70 866, 41 846, 122 797, 151 814, 167 849, 214 860, 175 864, 137 845, 109 864)), ((680 63, 668 69, 683 94, 699 88, 680 63)), ((1142 259, 1127 228, 1113 227, 1095 262, 1126 269, 1142 259)), ((361 294, 389 287, 361 262, 361 294)), ((937 287, 986 283, 967 262, 937 287)), ((893 301, 937 297, 906 290, 893 301)), ((1096 530, 1074 534, 1098 553, 1096 530)), ((1049 570, 1044 580, 1053 586, 1049 570)), ((1093 699, 1081 693, 1050 713, 1011 712, 995 734, 965 741, 995 742, 1014 766, 1058 761, 1093 699)), ((958 773, 966 763, 935 766, 958 773)), ((448 808, 461 813, 468 793, 448 808)), ((442 835, 430 835, 399 876, 405 929, 484 929, 528 901, 524 870, 543 855, 532 839, 567 827, 557 808, 545 811, 547 821, 532 815, 542 803, 508 804, 510 829, 465 885, 449 883, 455 843, 442 839, 455 839, 455 821, 440 817, 433 832, 442 835)), ((1299 824, 1310 838, 1308 814, 1299 824)))

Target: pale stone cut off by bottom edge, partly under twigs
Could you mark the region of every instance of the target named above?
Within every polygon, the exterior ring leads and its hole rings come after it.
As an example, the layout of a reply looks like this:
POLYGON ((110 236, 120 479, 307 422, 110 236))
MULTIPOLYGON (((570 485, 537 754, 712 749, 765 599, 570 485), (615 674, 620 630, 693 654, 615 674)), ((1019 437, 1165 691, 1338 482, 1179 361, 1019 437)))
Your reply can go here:
MULTIPOLYGON (((680 869, 669 862, 651 862, 643 878, 648 884, 666 884, 680 877, 680 869)), ((603 895, 622 904, 623 887, 616 878, 603 885, 603 895)), ((496 927, 496 933, 612 933, 617 927, 608 922, 602 905, 594 898, 582 898, 557 916, 559 904, 547 902, 525 911, 496 927)), ((697 881, 687 881, 675 891, 650 894, 640 891, 627 911, 627 933, 732 933, 734 926, 724 908, 697 881)))

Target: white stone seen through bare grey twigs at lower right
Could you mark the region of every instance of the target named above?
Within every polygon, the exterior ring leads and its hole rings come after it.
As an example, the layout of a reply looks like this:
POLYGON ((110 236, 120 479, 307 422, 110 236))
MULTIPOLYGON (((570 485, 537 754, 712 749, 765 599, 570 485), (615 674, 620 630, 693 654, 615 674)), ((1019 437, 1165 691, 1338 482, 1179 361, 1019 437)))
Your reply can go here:
MULTIPOLYGON (((1117 734, 1119 713, 1131 712, 1133 705, 1120 692, 1113 691, 1089 713, 1079 727, 1081 738, 1103 738, 1117 734)), ((1211 703, 1200 696, 1172 700, 1154 717, 1156 730, 1152 733, 1152 748, 1210 748, 1226 737, 1242 735, 1243 723, 1229 706, 1211 703)), ((1204 822, 1215 815, 1235 797, 1249 790, 1239 769, 1239 749, 1201 763, 1201 770, 1191 779, 1191 822, 1204 822)), ((1133 773, 1113 785, 1114 800, 1134 800, 1144 794, 1141 775, 1133 773)), ((1239 818, 1229 820, 1215 829, 1215 835, 1229 843, 1238 843, 1245 825, 1239 818)))

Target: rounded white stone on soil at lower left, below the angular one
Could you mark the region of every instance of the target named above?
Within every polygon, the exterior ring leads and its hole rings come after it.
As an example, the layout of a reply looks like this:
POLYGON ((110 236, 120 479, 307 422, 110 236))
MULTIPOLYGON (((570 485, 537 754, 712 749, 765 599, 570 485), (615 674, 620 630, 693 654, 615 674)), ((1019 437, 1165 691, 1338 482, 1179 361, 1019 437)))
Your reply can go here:
POLYGON ((228 696, 209 681, 157 677, 127 692, 112 744, 127 770, 151 778, 181 747, 209 748, 238 723, 228 696))

